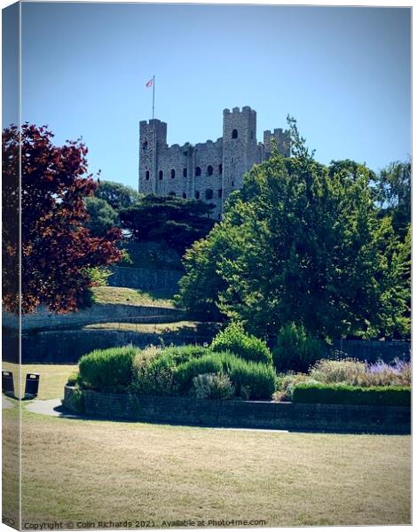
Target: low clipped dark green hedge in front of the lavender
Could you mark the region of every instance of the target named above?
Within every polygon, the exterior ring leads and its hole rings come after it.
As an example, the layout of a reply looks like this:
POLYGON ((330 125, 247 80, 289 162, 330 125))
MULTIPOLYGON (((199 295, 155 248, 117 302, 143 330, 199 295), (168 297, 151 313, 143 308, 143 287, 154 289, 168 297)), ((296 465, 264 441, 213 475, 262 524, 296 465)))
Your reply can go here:
POLYGON ((348 384, 297 384, 294 403, 383 404, 410 406, 409 387, 354 387, 348 384))

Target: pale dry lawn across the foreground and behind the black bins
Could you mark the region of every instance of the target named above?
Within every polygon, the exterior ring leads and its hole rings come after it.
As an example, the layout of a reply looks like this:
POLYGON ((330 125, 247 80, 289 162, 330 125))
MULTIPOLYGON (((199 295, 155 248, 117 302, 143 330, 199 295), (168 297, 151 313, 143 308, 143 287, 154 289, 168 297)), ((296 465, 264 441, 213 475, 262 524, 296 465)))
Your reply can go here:
MULTIPOLYGON (((43 398, 62 395, 55 371, 62 384, 63 373, 73 371, 28 367, 41 373, 43 398)), ((153 426, 28 411, 22 421, 24 522, 153 520, 161 527, 163 520, 235 519, 271 527, 411 520, 410 436, 153 426)), ((16 422, 4 411, 6 428, 16 422)))

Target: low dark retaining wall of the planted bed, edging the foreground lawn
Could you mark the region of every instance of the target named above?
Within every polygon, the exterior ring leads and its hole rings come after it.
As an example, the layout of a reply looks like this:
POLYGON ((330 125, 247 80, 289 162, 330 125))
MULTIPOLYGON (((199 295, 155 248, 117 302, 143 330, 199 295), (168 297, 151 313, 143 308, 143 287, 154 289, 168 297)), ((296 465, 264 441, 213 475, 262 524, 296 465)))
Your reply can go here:
MULTIPOLYGON (((71 389, 66 387, 65 404, 71 389)), ((85 390, 87 416, 151 423, 279 430, 410 433, 411 409, 400 406, 210 401, 191 397, 105 394, 85 390)))

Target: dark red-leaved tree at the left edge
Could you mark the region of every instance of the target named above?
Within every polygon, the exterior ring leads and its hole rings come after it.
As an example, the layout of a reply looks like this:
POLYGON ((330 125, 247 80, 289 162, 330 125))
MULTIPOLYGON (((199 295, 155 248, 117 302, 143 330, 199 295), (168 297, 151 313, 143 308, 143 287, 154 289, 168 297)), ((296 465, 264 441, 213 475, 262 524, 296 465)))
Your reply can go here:
POLYGON ((4 309, 18 312, 19 287, 13 285, 11 265, 21 246, 21 309, 39 305, 57 312, 76 310, 90 296, 89 270, 119 260, 116 228, 94 237, 84 227, 84 199, 97 184, 87 175, 87 148, 79 141, 53 145, 51 131, 25 123, 3 132, 4 309), (16 233, 14 205, 19 200, 21 149, 21 242, 16 233), (10 200, 12 198, 12 201, 10 200), (14 225, 13 225, 14 224, 14 225), (20 246, 19 246, 20 245, 20 246), (9 285, 9 279, 12 283, 9 285))

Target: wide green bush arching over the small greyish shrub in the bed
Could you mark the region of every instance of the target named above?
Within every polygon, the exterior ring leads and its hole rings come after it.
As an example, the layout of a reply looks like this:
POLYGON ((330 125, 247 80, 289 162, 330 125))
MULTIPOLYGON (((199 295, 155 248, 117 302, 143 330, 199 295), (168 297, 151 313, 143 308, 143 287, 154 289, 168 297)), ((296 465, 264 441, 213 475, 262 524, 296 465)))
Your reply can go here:
POLYGON ((271 399, 276 373, 271 365, 248 362, 232 353, 213 353, 189 360, 177 367, 174 379, 178 389, 187 393, 193 379, 203 373, 224 373, 231 379, 236 395, 244 399, 271 399))

